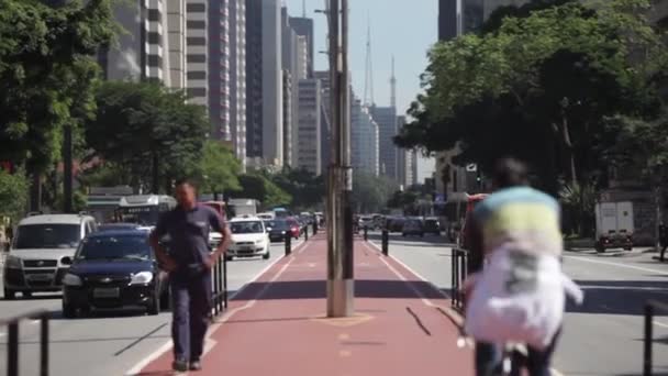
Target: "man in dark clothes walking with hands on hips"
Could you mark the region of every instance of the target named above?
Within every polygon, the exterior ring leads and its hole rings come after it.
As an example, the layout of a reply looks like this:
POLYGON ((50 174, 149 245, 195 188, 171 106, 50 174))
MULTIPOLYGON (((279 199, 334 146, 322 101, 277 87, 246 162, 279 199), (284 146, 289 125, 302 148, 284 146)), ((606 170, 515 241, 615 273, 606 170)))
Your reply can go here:
POLYGON ((210 269, 227 250, 231 234, 215 210, 197 203, 192 183, 177 183, 176 199, 178 206, 158 220, 151 234, 151 244, 163 268, 169 272, 172 368, 199 371, 211 312, 210 269), (213 253, 209 248, 210 230, 223 235, 213 253), (160 243, 165 235, 169 235, 167 250, 160 243))

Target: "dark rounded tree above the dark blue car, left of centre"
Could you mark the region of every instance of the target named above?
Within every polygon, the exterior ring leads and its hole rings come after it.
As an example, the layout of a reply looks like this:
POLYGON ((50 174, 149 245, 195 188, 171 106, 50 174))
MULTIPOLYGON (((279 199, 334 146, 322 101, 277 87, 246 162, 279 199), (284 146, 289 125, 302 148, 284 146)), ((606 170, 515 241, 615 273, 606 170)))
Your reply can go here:
POLYGON ((132 187, 154 192, 198 176, 210 124, 204 109, 186 99, 155 82, 104 82, 86 126, 87 161, 110 162, 129 172, 132 187))

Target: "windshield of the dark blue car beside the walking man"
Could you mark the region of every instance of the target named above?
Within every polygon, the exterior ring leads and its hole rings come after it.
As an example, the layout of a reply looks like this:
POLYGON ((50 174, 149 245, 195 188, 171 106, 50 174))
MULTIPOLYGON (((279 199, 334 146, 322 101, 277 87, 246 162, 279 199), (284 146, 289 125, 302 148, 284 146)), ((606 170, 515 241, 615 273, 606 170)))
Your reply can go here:
POLYGON ((108 235, 85 239, 75 259, 147 261, 151 255, 146 236, 108 235))

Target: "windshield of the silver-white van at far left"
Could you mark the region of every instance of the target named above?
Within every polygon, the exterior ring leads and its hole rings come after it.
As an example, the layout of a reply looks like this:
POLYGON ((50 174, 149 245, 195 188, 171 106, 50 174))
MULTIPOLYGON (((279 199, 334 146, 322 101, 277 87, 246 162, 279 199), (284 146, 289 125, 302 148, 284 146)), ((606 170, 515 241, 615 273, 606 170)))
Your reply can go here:
POLYGON ((19 226, 14 250, 76 248, 80 240, 79 224, 23 224, 19 226))

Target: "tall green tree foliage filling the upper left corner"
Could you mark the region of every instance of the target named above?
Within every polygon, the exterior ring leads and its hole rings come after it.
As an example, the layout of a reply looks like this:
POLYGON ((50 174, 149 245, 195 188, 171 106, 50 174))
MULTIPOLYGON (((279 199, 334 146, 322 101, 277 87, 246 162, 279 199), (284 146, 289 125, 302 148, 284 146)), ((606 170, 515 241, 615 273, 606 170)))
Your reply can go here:
POLYGON ((93 56, 116 31, 111 0, 0 2, 0 161, 38 176, 59 158, 63 126, 93 113, 93 56))

